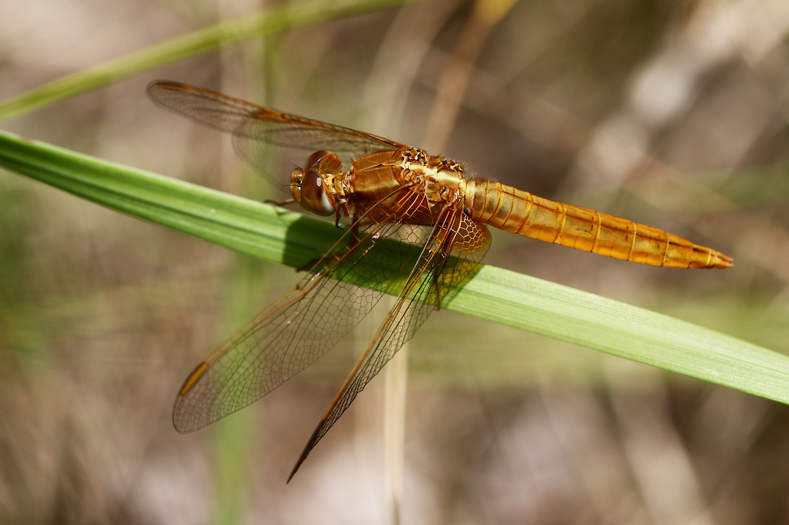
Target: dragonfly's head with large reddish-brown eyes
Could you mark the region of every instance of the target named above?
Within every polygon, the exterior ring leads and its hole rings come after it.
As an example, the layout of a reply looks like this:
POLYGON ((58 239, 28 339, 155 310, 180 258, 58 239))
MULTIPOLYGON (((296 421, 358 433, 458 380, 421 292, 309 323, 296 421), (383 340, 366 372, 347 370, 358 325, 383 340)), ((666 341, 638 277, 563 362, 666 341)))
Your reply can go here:
POLYGON ((316 215, 333 215, 337 201, 334 188, 327 182, 342 170, 340 158, 328 151, 316 151, 307 158, 304 169, 290 175, 290 193, 305 210, 316 215))

